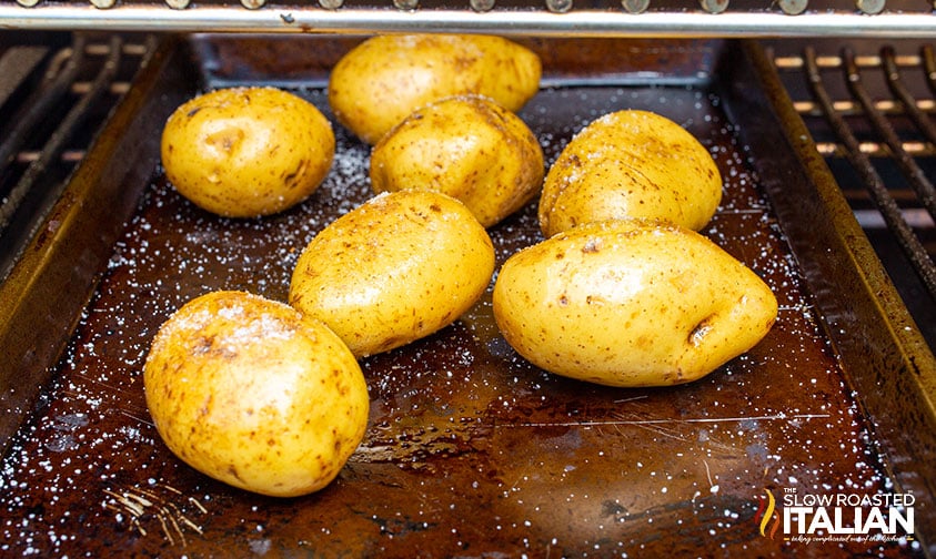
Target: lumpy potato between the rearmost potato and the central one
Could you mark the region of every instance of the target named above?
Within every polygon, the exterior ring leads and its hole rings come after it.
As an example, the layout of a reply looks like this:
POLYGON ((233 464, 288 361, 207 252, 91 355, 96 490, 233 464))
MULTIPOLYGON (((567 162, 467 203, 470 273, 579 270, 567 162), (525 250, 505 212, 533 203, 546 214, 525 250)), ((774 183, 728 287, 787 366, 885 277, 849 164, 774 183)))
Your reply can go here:
POLYGON ((485 227, 530 202, 543 174, 543 150, 533 132, 520 116, 479 95, 417 109, 371 153, 374 192, 443 192, 464 203, 485 227))

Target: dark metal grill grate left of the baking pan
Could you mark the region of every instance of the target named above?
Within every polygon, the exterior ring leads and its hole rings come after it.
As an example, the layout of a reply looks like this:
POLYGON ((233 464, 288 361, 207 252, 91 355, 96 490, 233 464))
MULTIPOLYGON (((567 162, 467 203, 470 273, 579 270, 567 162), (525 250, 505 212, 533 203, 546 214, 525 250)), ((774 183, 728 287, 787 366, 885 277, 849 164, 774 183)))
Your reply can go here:
POLYGON ((127 91, 147 40, 7 35, 0 43, 0 281, 127 91))

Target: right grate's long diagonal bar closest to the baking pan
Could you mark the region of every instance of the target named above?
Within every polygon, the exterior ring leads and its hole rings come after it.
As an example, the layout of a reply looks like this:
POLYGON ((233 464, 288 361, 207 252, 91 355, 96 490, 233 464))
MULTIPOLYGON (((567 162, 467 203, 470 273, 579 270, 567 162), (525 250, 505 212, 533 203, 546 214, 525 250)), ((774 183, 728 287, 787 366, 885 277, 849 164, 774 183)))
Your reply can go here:
POLYGON ((848 124, 844 119, 835 112, 829 99, 828 92, 823 84, 822 73, 816 64, 815 51, 807 47, 805 49, 806 74, 808 78, 809 88, 816 101, 823 108, 826 120, 829 126, 841 139, 842 143, 847 149, 847 157, 855 171, 862 177, 865 186, 868 190, 874 203, 880 211, 880 215, 887 223, 887 227, 894 233, 900 247, 907 254, 907 258, 913 263, 920 281, 926 285, 930 296, 936 297, 936 266, 929 260, 926 248, 920 243, 919 238, 914 233, 909 224, 900 215, 900 209, 897 203, 887 192, 887 187, 874 169, 868 157, 862 152, 860 144, 855 139, 848 124))

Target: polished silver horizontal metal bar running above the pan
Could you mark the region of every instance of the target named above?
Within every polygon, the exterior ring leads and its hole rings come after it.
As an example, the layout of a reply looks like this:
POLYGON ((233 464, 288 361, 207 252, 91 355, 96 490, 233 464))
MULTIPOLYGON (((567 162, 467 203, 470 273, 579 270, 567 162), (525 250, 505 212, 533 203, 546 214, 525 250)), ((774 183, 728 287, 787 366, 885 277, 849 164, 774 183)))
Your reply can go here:
POLYGON ((936 38, 936 14, 885 11, 806 11, 791 16, 779 10, 762 12, 644 11, 576 9, 542 10, 354 9, 324 10, 311 4, 235 7, 117 4, 41 4, 23 8, 0 3, 0 27, 6 29, 346 33, 446 31, 541 37, 646 38, 936 38))

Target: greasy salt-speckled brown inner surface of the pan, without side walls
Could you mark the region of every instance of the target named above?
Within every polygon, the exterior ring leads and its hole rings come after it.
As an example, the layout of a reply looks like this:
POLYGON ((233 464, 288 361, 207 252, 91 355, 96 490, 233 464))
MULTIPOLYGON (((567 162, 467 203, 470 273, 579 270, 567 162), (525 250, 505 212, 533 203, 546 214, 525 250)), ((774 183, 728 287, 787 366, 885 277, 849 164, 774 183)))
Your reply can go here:
MULTIPOLYGON (((208 47, 199 52, 213 52, 210 39, 200 41, 208 47)), ((197 88, 279 75, 331 116, 322 77, 329 57, 346 44, 311 42, 262 50, 263 43, 219 39, 223 57, 212 62, 223 64, 205 64, 205 82, 172 94, 181 100, 197 88), (295 65, 316 52, 321 68, 295 65)), ((335 126, 338 156, 321 189, 301 206, 260 220, 199 211, 155 167, 54 382, 10 445, 0 478, 0 549, 69 557, 919 552, 905 539, 784 541, 782 531, 772 533, 773 521, 762 536, 758 506, 767 490, 778 499, 787 491, 878 495, 892 490, 892 480, 738 142, 744 123, 727 116, 718 94, 712 69, 736 44, 622 44, 611 52, 600 47, 577 65, 566 64, 585 45, 544 50, 548 87, 521 115, 547 162, 587 122, 617 109, 656 111, 698 138, 725 180, 723 204, 703 233, 754 268, 779 299, 778 322, 758 346, 684 386, 593 386, 550 376, 514 354, 494 325, 489 292, 454 325, 362 360, 370 428, 331 486, 295 499, 234 490, 182 464, 159 439, 142 390, 152 336, 184 302, 211 289, 285 301, 305 243, 370 196, 369 149, 335 126), (591 75, 582 62, 608 59, 625 71, 591 75), (648 69, 653 77, 641 79, 648 69), (590 75, 598 80, 580 79, 590 75)), ((184 47, 170 67, 204 63, 184 47)), ((778 149, 776 156, 787 155, 778 149)), ((491 228, 499 264, 541 240, 535 214, 531 204, 491 228)))

